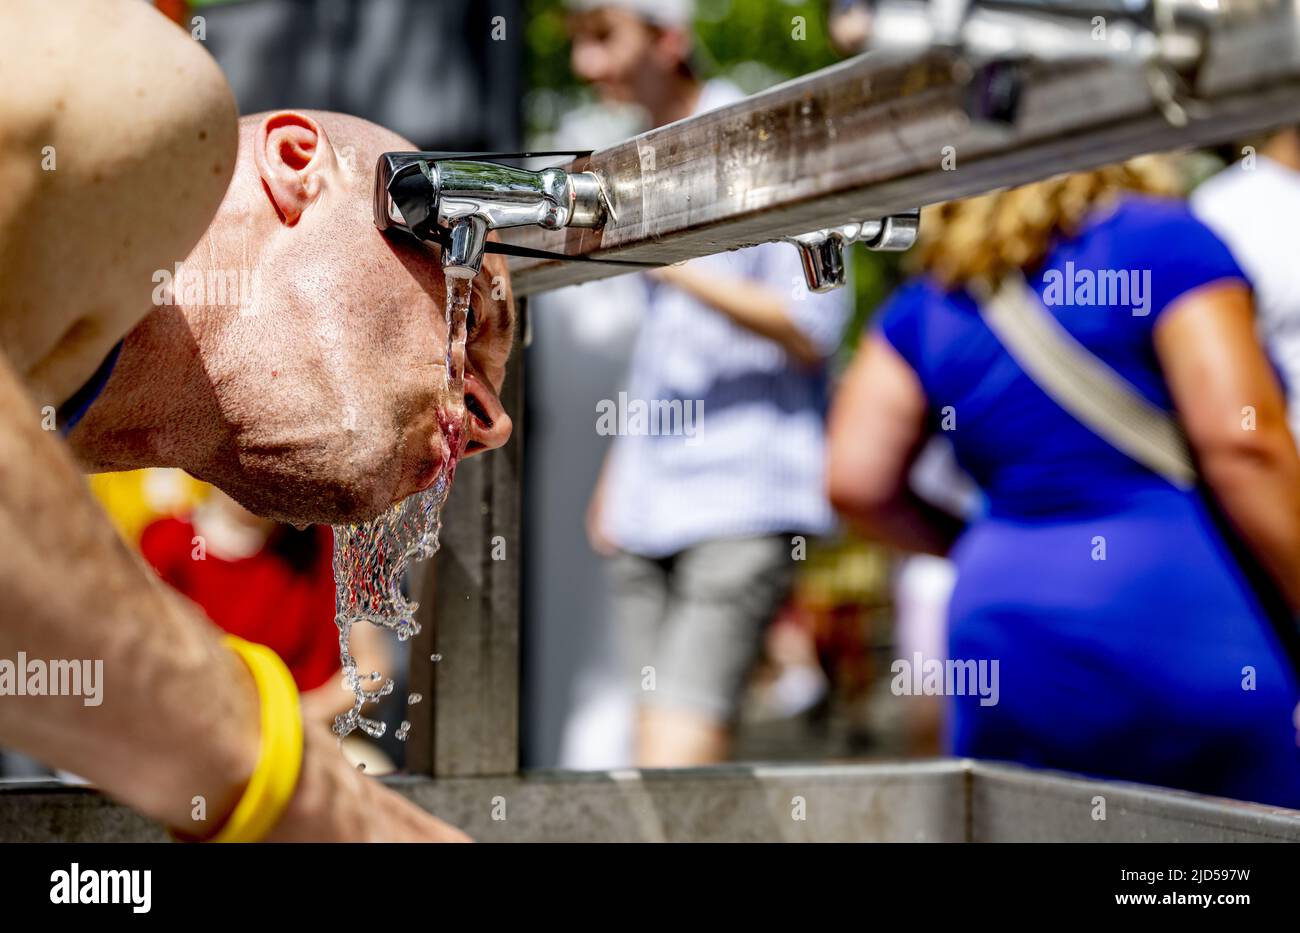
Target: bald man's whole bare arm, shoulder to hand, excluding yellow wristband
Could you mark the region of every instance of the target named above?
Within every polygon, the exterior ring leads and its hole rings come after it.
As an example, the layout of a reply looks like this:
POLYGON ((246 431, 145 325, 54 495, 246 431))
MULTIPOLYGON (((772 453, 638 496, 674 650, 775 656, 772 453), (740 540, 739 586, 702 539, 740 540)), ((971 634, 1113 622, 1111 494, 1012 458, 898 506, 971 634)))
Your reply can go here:
MULTIPOLYGON (((216 62, 148 4, 0 4, 0 660, 103 671, 92 706, 0 697, 0 746, 198 836, 252 773, 256 691, 118 542, 38 405, 66 400, 150 311, 153 272, 186 259, 221 201, 237 134, 216 62)), ((464 837, 308 728, 272 838, 464 837)))

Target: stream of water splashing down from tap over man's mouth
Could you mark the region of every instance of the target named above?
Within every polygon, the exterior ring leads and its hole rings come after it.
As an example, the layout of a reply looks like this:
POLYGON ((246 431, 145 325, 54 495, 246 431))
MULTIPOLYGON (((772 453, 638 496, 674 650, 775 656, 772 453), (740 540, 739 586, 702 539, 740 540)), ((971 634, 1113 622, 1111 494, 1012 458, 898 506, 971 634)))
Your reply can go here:
MULTIPOLYGON (((334 526, 334 624, 338 626, 343 685, 352 691, 352 708, 334 717, 339 738, 360 729, 372 738, 384 735, 385 724, 363 715, 394 690, 391 678, 372 672, 364 678, 351 652, 352 626, 369 622, 407 641, 419 634, 415 620, 419 604, 402 593, 402 581, 412 561, 428 560, 438 550, 442 507, 447 502, 456 463, 465 444, 465 337, 472 288, 471 279, 447 277, 446 322, 446 412, 439 416, 448 456, 433 483, 391 505, 377 518, 334 526), (373 684, 382 681, 378 686, 373 684)), ((396 737, 406 739, 411 728, 403 722, 396 737)))

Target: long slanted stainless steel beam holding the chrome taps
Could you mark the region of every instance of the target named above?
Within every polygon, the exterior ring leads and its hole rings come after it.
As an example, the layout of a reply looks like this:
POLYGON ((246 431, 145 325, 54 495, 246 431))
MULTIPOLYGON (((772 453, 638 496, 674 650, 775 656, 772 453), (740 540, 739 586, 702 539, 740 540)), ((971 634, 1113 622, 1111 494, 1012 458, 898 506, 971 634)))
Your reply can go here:
MULTIPOLYGON (((1183 126, 1131 57, 1031 62, 1015 120, 994 126, 970 117, 966 58, 871 52, 593 153, 581 165, 608 194, 599 231, 534 227, 506 239, 676 262, 1294 122, 1295 3, 1264 6, 1216 27, 1191 84, 1200 118, 1183 126)), ((516 294, 619 272, 545 259, 512 269, 516 294)))

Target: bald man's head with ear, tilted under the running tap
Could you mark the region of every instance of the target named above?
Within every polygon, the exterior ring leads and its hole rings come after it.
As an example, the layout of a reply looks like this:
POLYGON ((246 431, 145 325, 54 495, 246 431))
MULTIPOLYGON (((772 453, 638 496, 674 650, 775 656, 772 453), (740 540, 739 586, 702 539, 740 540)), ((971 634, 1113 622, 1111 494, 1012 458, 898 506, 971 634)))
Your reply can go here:
MULTIPOLYGON (((460 455, 443 428, 452 409, 446 283, 437 252, 381 234, 372 208, 380 153, 412 148, 337 113, 244 117, 230 187, 185 268, 187 278, 251 287, 213 303, 178 282, 174 305, 151 313, 127 340, 120 365, 138 372, 114 377, 126 390, 103 417, 121 429, 165 407, 166 383, 151 378, 143 351, 188 339, 203 392, 185 386, 188 409, 177 416, 174 442, 182 450, 168 459, 248 509, 358 521, 428 486, 460 455)), ((497 392, 514 303, 499 256, 474 279, 469 330, 465 455, 510 437, 497 392)))

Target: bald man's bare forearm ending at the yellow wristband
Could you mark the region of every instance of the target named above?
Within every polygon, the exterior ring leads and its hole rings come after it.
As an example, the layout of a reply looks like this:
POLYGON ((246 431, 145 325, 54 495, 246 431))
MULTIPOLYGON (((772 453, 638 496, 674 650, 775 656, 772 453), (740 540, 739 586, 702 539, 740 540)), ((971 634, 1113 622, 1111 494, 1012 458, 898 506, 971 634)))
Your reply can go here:
POLYGON ((220 826, 257 756, 247 669, 118 541, 3 357, 0 537, 0 658, 103 663, 98 706, 0 698, 0 742, 169 825, 202 797, 220 826))

